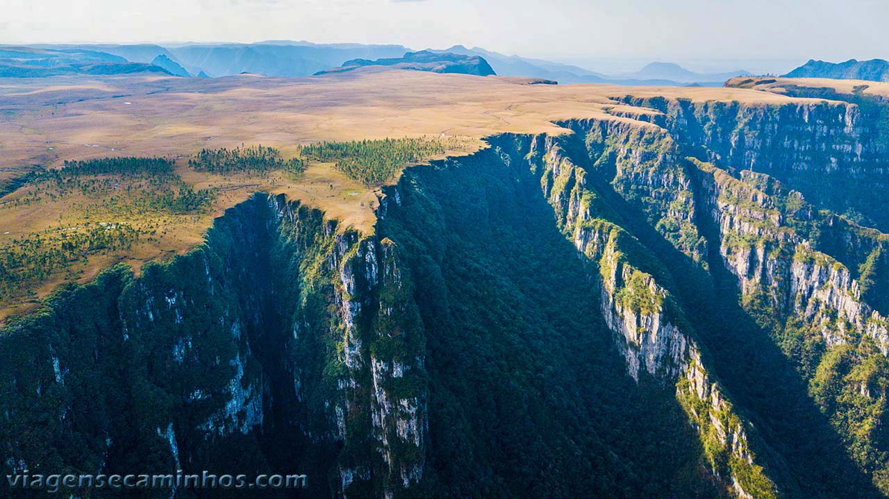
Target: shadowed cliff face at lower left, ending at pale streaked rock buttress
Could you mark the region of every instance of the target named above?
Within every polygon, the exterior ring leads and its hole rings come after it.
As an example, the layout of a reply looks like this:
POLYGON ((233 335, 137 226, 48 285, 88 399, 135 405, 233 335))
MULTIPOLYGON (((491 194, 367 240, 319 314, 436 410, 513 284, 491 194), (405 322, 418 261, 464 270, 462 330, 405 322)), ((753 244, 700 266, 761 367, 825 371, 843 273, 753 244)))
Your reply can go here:
POLYGON ((425 445, 410 286, 392 242, 257 194, 188 255, 108 271, 4 331, 6 464, 302 469, 316 494, 396 495, 425 445))

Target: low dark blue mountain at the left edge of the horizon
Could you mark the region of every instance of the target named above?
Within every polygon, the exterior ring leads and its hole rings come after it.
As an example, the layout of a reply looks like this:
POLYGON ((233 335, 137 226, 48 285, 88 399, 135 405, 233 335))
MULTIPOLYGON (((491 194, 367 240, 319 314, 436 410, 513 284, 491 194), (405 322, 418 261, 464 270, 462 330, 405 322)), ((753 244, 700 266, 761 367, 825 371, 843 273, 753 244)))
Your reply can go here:
POLYGON ((132 73, 170 75, 163 67, 131 62, 103 51, 79 48, 0 47, 0 77, 4 78, 132 73))

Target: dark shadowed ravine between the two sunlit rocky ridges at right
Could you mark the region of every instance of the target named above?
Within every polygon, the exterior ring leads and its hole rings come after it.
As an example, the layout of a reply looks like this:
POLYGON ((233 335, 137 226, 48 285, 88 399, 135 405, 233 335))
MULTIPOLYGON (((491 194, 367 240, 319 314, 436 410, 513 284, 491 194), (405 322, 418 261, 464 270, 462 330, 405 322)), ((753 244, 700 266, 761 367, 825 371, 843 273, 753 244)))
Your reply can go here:
MULTIPOLYGON (((695 215, 708 241, 709 273, 657 232, 642 210, 613 189, 610 179, 597 173, 577 134, 562 146, 620 214, 616 222, 668 270, 672 282, 665 284, 683 306, 730 399, 755 426, 760 441, 751 444, 757 455, 767 457, 766 472, 781 491, 789 497, 883 497, 847 455, 796 368, 769 333, 741 308, 737 281, 719 255, 718 227, 707 214, 695 215)), ((701 193, 700 188, 693 191, 701 193)))

